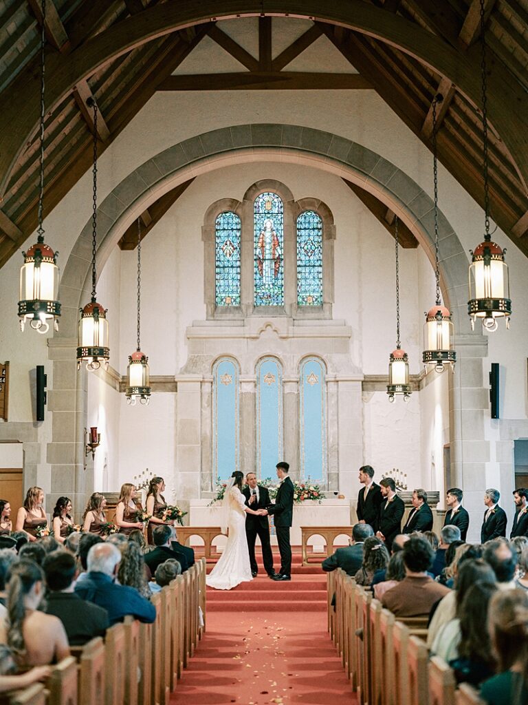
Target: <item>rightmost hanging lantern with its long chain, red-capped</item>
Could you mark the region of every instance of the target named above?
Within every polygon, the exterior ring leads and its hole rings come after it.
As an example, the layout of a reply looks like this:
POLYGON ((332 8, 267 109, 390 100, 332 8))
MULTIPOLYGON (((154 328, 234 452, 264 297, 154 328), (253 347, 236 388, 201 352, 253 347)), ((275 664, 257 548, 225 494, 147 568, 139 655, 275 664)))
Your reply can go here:
POLYGON ((480 42, 482 48, 482 146, 484 151, 484 242, 470 250, 470 300, 467 312, 471 327, 481 319, 486 331, 496 331, 498 319, 504 318, 510 327, 512 302, 510 279, 505 263, 506 250, 491 241, 489 232, 489 183, 488 183, 488 117, 486 111, 486 37, 484 35, 484 0, 480 0, 480 42))

